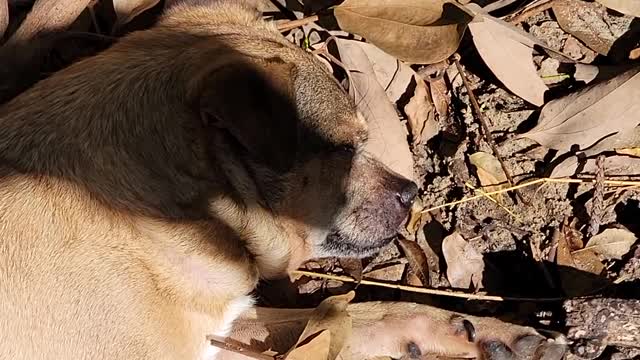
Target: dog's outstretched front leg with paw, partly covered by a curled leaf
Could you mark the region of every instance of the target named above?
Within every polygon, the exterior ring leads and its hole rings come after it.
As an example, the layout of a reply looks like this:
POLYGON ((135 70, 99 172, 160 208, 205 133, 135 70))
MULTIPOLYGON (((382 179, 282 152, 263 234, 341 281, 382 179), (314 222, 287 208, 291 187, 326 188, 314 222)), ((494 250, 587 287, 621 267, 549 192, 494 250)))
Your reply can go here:
MULTIPOLYGON (((239 319, 231 338, 262 352, 285 352, 302 333, 313 310, 252 309, 239 319)), ((435 356, 477 359, 560 359, 562 341, 544 338, 534 329, 453 313, 413 303, 351 304, 351 338, 343 348, 350 359, 388 356, 433 359, 435 356), (430 357, 433 356, 433 357, 430 357)), ((246 359, 224 351, 220 359, 246 359)))

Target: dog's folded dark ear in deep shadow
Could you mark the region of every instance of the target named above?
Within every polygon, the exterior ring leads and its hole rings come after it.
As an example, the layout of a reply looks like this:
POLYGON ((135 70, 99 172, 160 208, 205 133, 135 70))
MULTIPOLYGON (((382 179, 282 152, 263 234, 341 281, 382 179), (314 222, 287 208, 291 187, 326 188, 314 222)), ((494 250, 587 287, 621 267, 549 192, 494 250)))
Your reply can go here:
POLYGON ((295 66, 279 59, 217 66, 201 82, 203 120, 224 129, 252 160, 285 172, 298 140, 294 78, 295 66))

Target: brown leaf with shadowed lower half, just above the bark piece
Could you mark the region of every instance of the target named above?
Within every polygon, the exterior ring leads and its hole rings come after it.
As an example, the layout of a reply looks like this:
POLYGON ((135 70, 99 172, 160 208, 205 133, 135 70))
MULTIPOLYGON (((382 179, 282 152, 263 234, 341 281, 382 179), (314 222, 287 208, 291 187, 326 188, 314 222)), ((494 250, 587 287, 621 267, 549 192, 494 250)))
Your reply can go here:
POLYGON ((582 236, 573 226, 565 221, 560 230, 554 234, 557 237, 556 264, 560 265, 560 282, 565 293, 570 296, 584 295, 602 286, 602 280, 597 277, 604 271, 604 265, 598 256, 590 251, 576 251, 582 244, 582 236), (581 275, 576 269, 592 275, 581 275))

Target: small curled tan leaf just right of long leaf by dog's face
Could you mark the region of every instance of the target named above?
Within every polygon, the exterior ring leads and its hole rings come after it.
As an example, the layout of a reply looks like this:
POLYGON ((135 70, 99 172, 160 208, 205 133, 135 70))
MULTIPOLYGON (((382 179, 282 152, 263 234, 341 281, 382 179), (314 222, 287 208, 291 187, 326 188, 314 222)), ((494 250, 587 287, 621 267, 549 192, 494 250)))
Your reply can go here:
POLYGON ((435 120, 435 107, 424 80, 416 76, 416 90, 404 112, 411 132, 412 144, 423 144, 438 134, 440 130, 435 120))

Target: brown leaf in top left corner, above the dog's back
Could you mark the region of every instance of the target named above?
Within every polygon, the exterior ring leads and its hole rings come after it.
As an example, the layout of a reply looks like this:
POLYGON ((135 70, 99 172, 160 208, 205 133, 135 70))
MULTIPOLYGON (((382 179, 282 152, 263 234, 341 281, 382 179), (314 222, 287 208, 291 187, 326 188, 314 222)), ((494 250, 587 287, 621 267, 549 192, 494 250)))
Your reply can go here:
POLYGON ((39 33, 65 30, 91 0, 37 0, 8 43, 30 40, 39 33))

